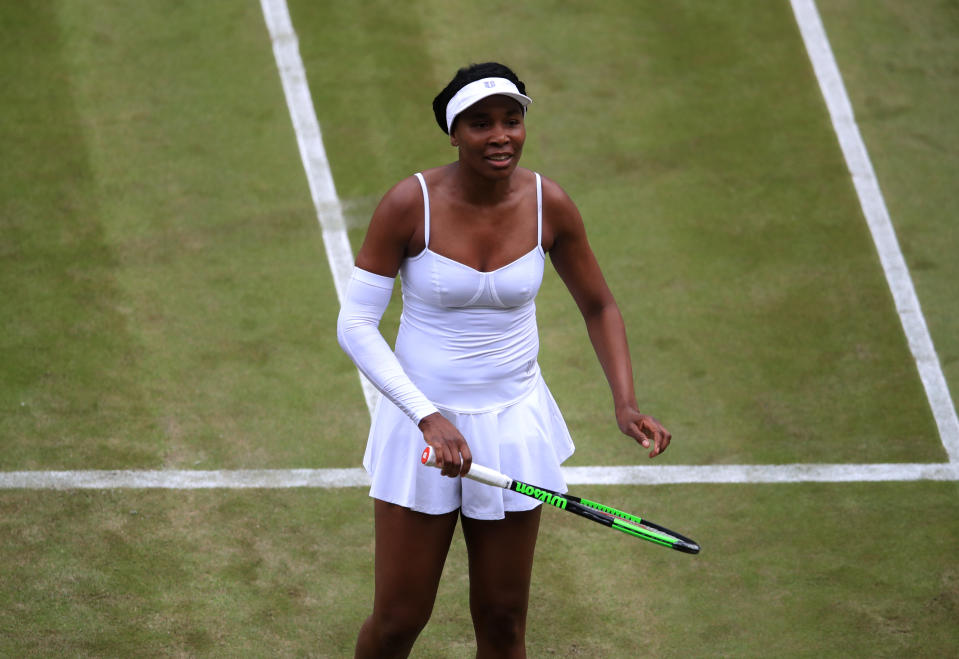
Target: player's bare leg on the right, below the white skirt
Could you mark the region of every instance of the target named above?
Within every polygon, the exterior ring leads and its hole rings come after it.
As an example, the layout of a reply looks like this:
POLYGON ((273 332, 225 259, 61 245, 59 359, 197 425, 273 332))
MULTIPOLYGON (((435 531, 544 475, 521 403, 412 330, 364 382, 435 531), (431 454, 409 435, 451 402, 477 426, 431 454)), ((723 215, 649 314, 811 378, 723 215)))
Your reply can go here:
POLYGON ((477 657, 525 657, 526 609, 541 506, 489 521, 463 517, 477 657))

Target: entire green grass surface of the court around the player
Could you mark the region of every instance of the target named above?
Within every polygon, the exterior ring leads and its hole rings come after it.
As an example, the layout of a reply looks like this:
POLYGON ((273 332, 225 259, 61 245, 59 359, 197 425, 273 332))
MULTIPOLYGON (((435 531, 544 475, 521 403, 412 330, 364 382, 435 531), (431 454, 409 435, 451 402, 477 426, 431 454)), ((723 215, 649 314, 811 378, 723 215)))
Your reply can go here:
MULTIPOLYGON (((956 9, 821 4, 955 397, 956 9)), ((8 5, 0 469, 358 466, 368 414, 257 3, 8 5)), ((456 67, 527 79, 525 164, 583 211, 675 436, 660 463, 943 460, 788 3, 291 13, 354 247, 392 183, 454 157, 430 102, 456 67)), ((553 274, 538 310, 571 464, 644 462, 553 274)), ((956 483, 574 491, 703 553, 547 511, 531 656, 959 644, 956 483)), ((0 655, 348 656, 371 531, 362 488, 0 492, 0 655)), ((465 560, 457 538, 416 656, 472 656, 465 560)))

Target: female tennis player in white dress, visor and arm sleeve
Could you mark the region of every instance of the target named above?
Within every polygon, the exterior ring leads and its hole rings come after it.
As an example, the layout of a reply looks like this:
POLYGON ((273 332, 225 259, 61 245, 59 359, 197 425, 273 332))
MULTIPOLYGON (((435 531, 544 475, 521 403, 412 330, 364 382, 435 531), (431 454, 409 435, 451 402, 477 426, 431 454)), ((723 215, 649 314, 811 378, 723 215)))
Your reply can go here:
POLYGON ((363 461, 376 591, 358 657, 410 653, 458 519, 477 656, 525 656, 540 502, 460 476, 475 458, 566 491, 560 464, 573 442, 537 363, 534 298, 547 253, 582 312, 620 430, 650 457, 671 439, 637 407, 622 315, 579 211, 559 185, 519 167, 530 102, 506 66, 460 69, 433 101, 457 159, 394 186, 356 257, 337 336, 384 396, 363 461), (403 314, 394 352, 378 326, 397 274, 403 314), (420 465, 424 442, 440 470, 420 465))

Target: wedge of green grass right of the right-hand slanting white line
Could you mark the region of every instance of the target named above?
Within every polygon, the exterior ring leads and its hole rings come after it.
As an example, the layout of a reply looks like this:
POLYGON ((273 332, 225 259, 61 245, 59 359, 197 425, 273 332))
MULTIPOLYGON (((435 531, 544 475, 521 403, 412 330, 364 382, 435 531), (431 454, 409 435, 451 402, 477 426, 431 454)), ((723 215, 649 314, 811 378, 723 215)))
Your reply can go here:
POLYGON ((959 405, 959 7, 930 2, 822 3, 856 119, 959 405), (862 20, 865 15, 868 20, 862 20))

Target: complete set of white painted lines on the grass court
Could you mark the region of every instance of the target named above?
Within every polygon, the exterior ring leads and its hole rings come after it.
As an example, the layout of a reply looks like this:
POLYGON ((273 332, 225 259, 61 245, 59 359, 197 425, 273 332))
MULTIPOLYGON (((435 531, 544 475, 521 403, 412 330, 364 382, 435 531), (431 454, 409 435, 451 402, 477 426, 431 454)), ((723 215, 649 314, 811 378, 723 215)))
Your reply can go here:
MULTIPOLYGON (((296 35, 284 0, 261 0, 277 67, 283 80, 297 143, 323 229, 327 257, 341 296, 349 277, 352 251, 329 162, 323 149, 296 35)), ((879 249, 883 269, 896 300, 910 349, 916 358, 936 416, 949 463, 930 464, 791 464, 642 467, 564 467, 570 485, 663 485, 680 483, 895 482, 959 480, 959 421, 939 360, 919 308, 912 280, 896 241, 872 164, 859 135, 838 67, 816 7, 792 0, 803 40, 826 97, 830 116, 853 176, 860 203, 879 249)), ((361 376, 361 381, 365 379, 361 376)), ((366 384, 364 384, 366 393, 366 384)), ((367 402, 370 404, 370 396, 367 402)), ((371 404, 370 404, 371 405, 371 404)), ((370 406, 372 409, 372 405, 370 406)), ((235 471, 14 471, 0 472, 0 489, 87 488, 290 488, 368 486, 362 469, 260 469, 235 471)))

